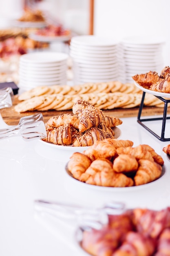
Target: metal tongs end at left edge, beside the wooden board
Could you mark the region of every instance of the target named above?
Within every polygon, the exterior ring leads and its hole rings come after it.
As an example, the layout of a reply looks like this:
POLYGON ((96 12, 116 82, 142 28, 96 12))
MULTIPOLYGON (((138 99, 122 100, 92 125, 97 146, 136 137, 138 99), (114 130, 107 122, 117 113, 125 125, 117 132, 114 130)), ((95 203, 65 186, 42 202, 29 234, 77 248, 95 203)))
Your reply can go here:
POLYGON ((11 87, 0 89, 0 109, 12 106, 13 90, 11 87))

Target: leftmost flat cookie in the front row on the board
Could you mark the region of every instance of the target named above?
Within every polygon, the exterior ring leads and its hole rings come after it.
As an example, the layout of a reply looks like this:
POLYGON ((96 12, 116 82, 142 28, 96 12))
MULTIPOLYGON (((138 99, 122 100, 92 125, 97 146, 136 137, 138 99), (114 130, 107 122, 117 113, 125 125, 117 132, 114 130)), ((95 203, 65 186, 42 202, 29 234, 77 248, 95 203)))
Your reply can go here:
POLYGON ((44 97, 36 96, 31 99, 26 99, 25 101, 22 101, 18 103, 14 110, 16 112, 26 112, 28 110, 35 110, 38 106, 40 106, 44 101, 44 97))

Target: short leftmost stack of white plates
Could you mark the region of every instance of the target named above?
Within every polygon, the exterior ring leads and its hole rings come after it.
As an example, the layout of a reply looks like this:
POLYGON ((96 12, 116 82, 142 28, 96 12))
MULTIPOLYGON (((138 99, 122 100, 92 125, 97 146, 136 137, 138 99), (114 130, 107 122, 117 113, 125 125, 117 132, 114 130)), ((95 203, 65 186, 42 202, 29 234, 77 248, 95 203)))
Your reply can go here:
POLYGON ((19 88, 66 84, 68 55, 60 52, 33 52, 20 57, 19 88))

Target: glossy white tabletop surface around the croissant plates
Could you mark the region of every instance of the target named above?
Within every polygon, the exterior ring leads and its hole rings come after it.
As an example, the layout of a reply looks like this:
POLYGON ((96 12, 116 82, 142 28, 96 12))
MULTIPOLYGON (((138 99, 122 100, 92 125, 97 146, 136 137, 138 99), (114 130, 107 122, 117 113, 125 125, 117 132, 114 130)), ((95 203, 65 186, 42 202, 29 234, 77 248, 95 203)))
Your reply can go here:
MULTIPOLYGON (((37 199, 73 203, 83 207, 101 207, 109 201, 124 202, 127 207, 163 209, 170 206, 170 161, 159 141, 137 123, 137 117, 121 118, 120 139, 134 146, 148 144, 163 157, 166 174, 148 186, 117 191, 97 189, 71 179, 65 171, 72 152, 57 150, 39 140, 21 137, 0 140, 0 255, 3 256, 83 256, 74 234, 78 223, 57 218, 35 209, 37 199)), ((161 121, 147 125, 161 134, 161 121)), ((7 127, 0 116, 0 128, 7 127)), ((166 136, 170 120, 166 122, 166 136)))

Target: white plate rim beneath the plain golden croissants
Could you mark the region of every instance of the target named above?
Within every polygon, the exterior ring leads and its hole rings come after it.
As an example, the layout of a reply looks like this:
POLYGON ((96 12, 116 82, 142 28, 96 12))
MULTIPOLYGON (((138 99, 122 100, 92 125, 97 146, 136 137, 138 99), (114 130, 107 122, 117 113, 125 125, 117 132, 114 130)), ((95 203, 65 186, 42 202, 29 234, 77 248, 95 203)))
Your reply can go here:
POLYGON ((157 184, 159 180, 166 175, 166 167, 163 166, 162 168, 162 174, 161 176, 152 182, 149 182, 144 185, 139 185, 139 186, 129 186, 129 187, 108 187, 108 186, 97 186, 97 185, 91 185, 87 184, 85 182, 81 182, 79 180, 76 180, 73 175, 68 171, 67 164, 66 164, 66 173, 68 174, 68 177, 71 178, 73 182, 78 182, 78 184, 82 184, 82 186, 86 187, 86 189, 95 189, 95 190, 100 190, 100 191, 108 191, 108 192, 128 192, 128 191, 137 191, 139 189, 146 189, 148 186, 152 186, 153 184, 157 184))

